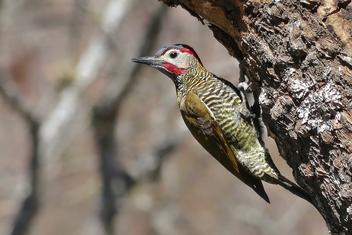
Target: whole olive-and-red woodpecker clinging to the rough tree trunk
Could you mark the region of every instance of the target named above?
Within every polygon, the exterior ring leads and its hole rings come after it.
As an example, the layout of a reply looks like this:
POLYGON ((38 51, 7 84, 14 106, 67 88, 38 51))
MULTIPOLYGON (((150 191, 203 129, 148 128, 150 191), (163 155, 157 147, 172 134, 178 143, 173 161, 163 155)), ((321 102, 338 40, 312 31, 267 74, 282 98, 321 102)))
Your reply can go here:
POLYGON ((181 115, 195 139, 222 166, 270 203, 263 181, 277 184, 312 203, 303 188, 285 178, 262 140, 260 120, 249 106, 243 85, 208 72, 188 45, 160 49, 132 62, 158 69, 174 82, 181 115))

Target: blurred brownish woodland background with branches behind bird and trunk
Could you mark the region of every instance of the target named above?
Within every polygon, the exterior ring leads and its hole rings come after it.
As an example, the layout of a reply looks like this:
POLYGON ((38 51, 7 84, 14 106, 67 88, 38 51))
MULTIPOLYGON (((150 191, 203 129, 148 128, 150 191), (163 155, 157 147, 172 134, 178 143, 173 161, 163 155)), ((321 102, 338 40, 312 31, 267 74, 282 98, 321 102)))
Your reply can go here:
MULTIPOLYGON (((194 140, 172 81, 131 63, 189 44, 238 83, 207 26, 157 0, 0 1, 0 234, 327 234, 309 203, 271 204, 194 140)), ((291 169, 266 138, 283 175, 291 169)))

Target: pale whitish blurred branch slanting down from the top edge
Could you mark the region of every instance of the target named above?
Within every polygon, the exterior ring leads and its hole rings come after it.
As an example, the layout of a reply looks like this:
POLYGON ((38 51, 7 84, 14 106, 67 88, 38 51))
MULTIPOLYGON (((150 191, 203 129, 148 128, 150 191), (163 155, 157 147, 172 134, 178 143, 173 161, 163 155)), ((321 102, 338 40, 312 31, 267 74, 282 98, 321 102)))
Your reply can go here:
MULTIPOLYGON (((101 29, 106 35, 118 31, 132 2, 129 0, 108 2, 101 23, 101 29)), ((105 35, 91 39, 87 50, 78 61, 74 80, 59 94, 57 105, 40 130, 41 138, 45 140, 41 148, 46 156, 53 159, 60 156, 77 129, 82 128, 82 124, 78 125, 81 120, 78 121, 77 118, 87 117, 88 110, 80 109, 81 95, 98 78, 112 49, 112 44, 105 35)))

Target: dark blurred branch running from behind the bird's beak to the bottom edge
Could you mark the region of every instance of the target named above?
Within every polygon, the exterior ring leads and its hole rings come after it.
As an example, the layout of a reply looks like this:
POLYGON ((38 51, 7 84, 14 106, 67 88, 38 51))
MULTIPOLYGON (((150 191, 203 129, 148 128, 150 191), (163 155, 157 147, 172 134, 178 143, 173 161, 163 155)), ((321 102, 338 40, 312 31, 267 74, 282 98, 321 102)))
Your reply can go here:
MULTIPOLYGON (((165 12, 166 7, 160 7, 150 20, 144 43, 140 49, 141 56, 151 53, 165 12)), ((103 180, 101 219, 107 234, 113 234, 114 232, 112 219, 119 211, 119 199, 125 196, 135 183, 132 177, 116 163, 118 161, 118 151, 114 126, 118 122, 121 103, 135 84, 140 68, 141 66, 136 64, 131 73, 127 75, 124 86, 118 92, 105 93, 102 98, 103 101, 93 111, 92 122, 99 146, 100 173, 103 180), (114 190, 116 186, 118 190, 114 190)))

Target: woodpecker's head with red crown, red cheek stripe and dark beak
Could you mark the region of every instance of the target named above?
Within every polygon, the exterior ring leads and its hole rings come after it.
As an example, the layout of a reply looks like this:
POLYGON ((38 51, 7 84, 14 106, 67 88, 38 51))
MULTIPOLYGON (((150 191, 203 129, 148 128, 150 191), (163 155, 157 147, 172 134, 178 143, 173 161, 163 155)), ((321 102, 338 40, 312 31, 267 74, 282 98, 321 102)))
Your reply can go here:
POLYGON ((133 58, 132 62, 156 68, 169 76, 174 82, 186 73, 203 68, 197 53, 189 45, 184 44, 164 47, 158 50, 154 56, 133 58))

